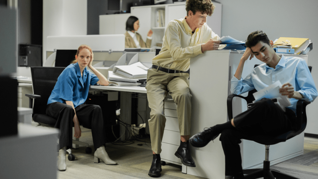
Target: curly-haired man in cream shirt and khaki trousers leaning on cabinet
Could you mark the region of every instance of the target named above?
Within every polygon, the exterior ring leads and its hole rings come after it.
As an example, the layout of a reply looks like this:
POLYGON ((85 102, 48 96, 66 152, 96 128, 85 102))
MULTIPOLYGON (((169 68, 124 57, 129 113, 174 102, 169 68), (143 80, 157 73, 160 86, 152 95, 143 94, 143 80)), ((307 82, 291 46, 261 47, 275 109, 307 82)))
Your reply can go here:
POLYGON ((161 142, 165 127, 164 98, 169 93, 177 105, 180 130, 180 147, 175 152, 183 165, 195 167, 190 150, 189 134, 191 119, 191 94, 188 73, 190 58, 207 50, 217 50, 220 37, 206 25, 206 17, 211 16, 215 6, 211 0, 187 0, 187 16, 169 22, 163 37, 162 49, 152 59, 152 69, 147 75, 147 97, 151 109, 149 130, 153 161, 149 176, 161 176, 161 142))

